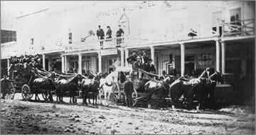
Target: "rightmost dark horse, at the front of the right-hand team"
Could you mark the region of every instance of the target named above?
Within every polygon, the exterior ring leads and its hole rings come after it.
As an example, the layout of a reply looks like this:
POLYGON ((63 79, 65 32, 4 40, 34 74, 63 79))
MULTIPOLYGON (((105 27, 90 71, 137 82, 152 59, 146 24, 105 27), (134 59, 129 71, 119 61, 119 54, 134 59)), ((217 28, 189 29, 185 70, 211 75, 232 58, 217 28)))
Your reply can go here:
POLYGON ((223 75, 220 72, 215 71, 212 75, 210 75, 208 80, 206 78, 202 78, 201 82, 193 87, 194 97, 198 100, 198 106, 200 109, 206 108, 207 105, 210 108, 214 106, 214 90, 218 82, 223 84, 223 75))

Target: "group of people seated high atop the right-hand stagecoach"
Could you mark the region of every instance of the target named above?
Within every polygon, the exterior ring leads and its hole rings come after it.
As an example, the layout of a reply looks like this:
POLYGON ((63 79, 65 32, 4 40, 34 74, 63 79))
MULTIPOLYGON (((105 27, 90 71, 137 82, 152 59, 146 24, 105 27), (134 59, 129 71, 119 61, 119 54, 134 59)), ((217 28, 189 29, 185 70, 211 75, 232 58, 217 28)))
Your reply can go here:
POLYGON ((127 62, 129 64, 132 64, 132 68, 156 73, 156 68, 154 67, 152 61, 153 60, 146 55, 145 50, 143 50, 142 52, 139 51, 138 54, 134 52, 132 53, 132 55, 129 56, 129 58, 127 58, 127 62))

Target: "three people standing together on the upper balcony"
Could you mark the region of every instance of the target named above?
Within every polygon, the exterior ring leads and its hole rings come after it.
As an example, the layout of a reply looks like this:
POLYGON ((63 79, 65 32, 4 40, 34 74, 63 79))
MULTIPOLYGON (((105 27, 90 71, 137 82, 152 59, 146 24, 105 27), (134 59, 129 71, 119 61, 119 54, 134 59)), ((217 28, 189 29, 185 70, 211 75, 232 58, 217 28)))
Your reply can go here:
MULTIPOLYGON (((124 30, 121 28, 121 25, 119 25, 118 27, 119 27, 119 29, 117 30, 116 37, 117 37, 117 45, 120 45, 123 42, 124 39, 119 38, 119 37, 124 36, 124 30)), ((100 41, 100 46, 102 47, 104 39, 112 38, 112 30, 111 30, 110 26, 107 26, 107 33, 106 33, 106 36, 105 36, 105 32, 103 31, 101 26, 98 26, 98 30, 97 30, 96 35, 97 35, 97 38, 99 40, 101 40, 100 41)))

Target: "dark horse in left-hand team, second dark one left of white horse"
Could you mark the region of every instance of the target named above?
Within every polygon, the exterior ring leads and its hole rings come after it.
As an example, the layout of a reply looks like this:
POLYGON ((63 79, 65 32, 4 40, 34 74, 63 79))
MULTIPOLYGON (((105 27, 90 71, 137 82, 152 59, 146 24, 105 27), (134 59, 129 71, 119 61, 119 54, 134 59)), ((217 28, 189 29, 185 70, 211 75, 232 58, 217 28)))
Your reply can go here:
POLYGON ((75 93, 78 92, 78 82, 81 79, 81 75, 75 74, 73 77, 70 77, 68 80, 60 78, 55 80, 56 84, 56 100, 57 102, 63 102, 63 96, 65 92, 68 92, 70 97, 70 103, 76 103, 75 93))

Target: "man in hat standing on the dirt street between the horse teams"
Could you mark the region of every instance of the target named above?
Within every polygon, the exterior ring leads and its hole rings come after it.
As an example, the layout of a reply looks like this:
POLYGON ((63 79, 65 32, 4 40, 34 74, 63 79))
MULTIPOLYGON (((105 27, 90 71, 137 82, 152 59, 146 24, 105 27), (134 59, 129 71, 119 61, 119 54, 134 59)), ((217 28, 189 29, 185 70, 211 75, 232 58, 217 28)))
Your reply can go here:
POLYGON ((132 92, 134 90, 134 86, 132 84, 132 77, 130 75, 127 75, 126 79, 127 81, 124 82, 125 99, 127 107, 132 107, 132 92))

